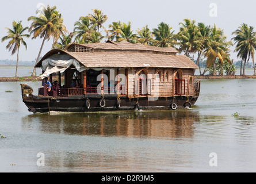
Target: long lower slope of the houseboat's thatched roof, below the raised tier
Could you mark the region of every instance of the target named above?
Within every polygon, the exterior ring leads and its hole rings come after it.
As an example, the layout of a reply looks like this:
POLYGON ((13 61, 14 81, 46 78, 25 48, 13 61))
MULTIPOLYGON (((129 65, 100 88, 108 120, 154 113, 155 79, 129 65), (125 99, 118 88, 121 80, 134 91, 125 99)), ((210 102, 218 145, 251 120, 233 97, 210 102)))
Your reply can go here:
POLYGON ((77 59, 85 67, 163 67, 163 68, 198 68, 185 55, 161 55, 139 52, 68 52, 61 49, 52 49, 47 52, 35 67, 47 57, 69 55, 77 59), (161 62, 159 62, 161 61, 161 62))

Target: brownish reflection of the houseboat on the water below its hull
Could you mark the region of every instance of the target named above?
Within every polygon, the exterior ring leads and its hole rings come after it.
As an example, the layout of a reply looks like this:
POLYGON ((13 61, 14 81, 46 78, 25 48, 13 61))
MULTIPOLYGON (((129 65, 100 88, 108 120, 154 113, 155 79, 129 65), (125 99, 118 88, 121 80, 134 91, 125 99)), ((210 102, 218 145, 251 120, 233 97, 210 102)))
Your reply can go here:
POLYGON ((22 118, 25 129, 64 135, 133 137, 193 137, 197 112, 162 110, 147 112, 31 114, 22 118))

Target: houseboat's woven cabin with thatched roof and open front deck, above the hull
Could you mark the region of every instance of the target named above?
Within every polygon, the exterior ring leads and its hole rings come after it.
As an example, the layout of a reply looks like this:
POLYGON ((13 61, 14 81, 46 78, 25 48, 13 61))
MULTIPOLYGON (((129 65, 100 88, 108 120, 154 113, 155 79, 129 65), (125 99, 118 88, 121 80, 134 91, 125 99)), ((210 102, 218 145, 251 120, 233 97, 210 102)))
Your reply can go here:
POLYGON ((39 95, 101 94, 128 98, 195 95, 197 66, 189 57, 177 53, 171 47, 127 41, 74 43, 65 51, 52 49, 36 64, 43 70, 41 78, 48 76, 52 84, 50 91, 40 87, 39 95))

